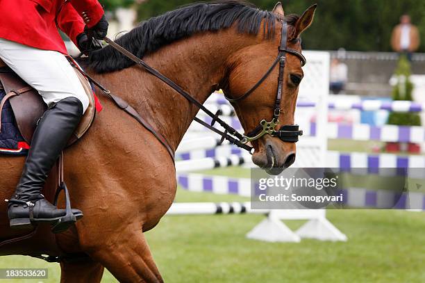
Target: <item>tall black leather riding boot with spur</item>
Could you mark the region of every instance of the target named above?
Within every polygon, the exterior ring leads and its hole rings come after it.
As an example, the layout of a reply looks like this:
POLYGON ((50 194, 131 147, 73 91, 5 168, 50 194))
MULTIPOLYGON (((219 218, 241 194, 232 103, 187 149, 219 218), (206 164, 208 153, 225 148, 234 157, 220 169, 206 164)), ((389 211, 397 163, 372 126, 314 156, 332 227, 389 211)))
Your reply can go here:
MULTIPOLYGON (((27 228, 40 222, 54 225, 65 216, 65 209, 58 209, 45 200, 40 191, 82 116, 83 105, 75 97, 60 100, 43 114, 15 194, 8 200, 10 227, 27 228)), ((73 213, 77 219, 83 216, 77 209, 73 209, 73 213)))

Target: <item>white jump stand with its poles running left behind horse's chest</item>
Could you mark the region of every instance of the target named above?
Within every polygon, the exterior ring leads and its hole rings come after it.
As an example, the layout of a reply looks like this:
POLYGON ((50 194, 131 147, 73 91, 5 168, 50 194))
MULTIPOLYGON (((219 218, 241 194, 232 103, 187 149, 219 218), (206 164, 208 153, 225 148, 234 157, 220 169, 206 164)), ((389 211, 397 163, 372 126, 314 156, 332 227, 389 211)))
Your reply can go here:
MULTIPOLYGON (((306 51, 308 65, 303 68, 304 79, 299 90, 299 104, 308 107, 297 108, 296 122, 301 129, 310 128, 310 120, 315 118, 315 135, 303 136, 297 143, 297 161, 295 167, 324 167, 326 165, 326 123, 328 111, 328 71, 329 54, 319 51, 306 51)), ((221 111, 222 115, 233 127, 240 127, 235 118, 233 108, 224 102, 220 95, 214 94, 206 104, 213 110, 221 111)), ((203 118, 199 114, 199 118, 203 118)), ((205 118, 206 122, 208 118, 205 118)), ((204 129, 192 124, 183 142, 178 147, 177 156, 181 161, 176 162, 176 172, 179 184, 190 191, 210 191, 212 193, 237 193, 250 195, 250 180, 235 179, 228 181, 226 177, 214 176, 214 181, 208 183, 202 175, 185 175, 186 172, 207 170, 231 165, 254 166, 251 156, 237 147, 224 143, 219 145, 215 136, 206 136, 204 129)), ((174 203, 167 215, 194 215, 219 213, 260 213, 267 218, 247 234, 248 238, 260 241, 299 242, 301 238, 316 238, 322 241, 347 241, 332 223, 326 219, 324 209, 285 209, 285 210, 256 210, 251 209, 250 203, 174 203), (292 232, 282 220, 307 220, 307 223, 292 232)))

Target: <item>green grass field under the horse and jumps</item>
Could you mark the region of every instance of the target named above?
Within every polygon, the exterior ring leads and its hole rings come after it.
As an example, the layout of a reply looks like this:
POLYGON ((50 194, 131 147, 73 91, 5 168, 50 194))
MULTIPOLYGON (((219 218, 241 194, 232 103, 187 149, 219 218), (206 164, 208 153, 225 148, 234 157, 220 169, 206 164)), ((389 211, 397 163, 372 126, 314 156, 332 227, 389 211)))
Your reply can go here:
MULTIPOLYGON (((240 201, 238 196, 179 191, 178 202, 240 201)), ((425 282, 423 213, 331 210, 347 243, 262 243, 244 238, 263 216, 167 216, 147 233, 165 282, 425 282)), ((291 228, 302 222, 288 222, 291 228)), ((49 268, 27 257, 1 257, 0 268, 49 268)), ((0 280, 2 282, 4 280, 0 280)), ((102 282, 116 282, 110 273, 102 282)))

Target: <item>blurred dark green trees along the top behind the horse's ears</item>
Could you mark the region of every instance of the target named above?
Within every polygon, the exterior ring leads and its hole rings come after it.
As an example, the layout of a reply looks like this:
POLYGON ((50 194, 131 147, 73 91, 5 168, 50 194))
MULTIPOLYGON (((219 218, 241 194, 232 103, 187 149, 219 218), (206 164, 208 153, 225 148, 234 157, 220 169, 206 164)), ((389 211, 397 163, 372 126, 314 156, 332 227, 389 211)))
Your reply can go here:
MULTIPOLYGON (((108 0, 119 1, 119 0, 108 0)), ((123 0, 121 0, 123 1, 123 0)), ((271 10, 278 0, 251 0, 258 8, 271 10)), ((425 1, 417 0, 281 0, 285 13, 303 13, 313 3, 313 25, 303 34, 305 49, 391 51, 392 28, 407 13, 422 35, 419 51, 425 51, 425 1)), ((138 19, 148 19, 194 1, 147 0, 138 6, 138 19)))

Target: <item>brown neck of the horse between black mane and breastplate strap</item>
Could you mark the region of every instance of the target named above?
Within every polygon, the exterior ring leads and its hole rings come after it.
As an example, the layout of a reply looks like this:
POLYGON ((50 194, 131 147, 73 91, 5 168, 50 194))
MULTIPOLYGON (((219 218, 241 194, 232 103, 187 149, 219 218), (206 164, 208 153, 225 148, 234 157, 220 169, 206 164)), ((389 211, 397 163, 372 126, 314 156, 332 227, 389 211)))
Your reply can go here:
MULTIPOLYGON (((199 34, 163 47, 144 60, 203 103, 224 78, 229 56, 253 41, 253 37, 231 30, 199 34)), ((119 95, 131 102, 175 150, 199 108, 140 67, 109 76, 115 76, 117 83, 126 83, 119 95)))

